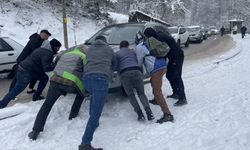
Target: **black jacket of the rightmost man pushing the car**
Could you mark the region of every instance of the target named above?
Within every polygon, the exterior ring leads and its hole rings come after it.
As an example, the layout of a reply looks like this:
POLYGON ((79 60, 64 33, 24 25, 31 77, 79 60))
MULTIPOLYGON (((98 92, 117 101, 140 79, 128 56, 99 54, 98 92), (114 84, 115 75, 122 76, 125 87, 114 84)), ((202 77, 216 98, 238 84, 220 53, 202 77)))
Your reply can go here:
POLYGON ((175 62, 178 60, 179 57, 183 57, 183 50, 181 47, 176 43, 175 39, 171 35, 167 35, 166 33, 159 32, 157 34, 158 40, 161 42, 165 42, 170 47, 170 51, 167 54, 167 58, 170 62, 175 62))

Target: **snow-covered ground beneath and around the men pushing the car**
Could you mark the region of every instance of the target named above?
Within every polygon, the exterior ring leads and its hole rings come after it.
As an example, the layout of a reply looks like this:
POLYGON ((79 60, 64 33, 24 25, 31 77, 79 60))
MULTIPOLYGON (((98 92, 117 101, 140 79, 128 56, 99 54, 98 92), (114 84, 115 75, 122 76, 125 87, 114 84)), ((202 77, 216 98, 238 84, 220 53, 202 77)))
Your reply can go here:
MULTIPOLYGON (((188 105, 173 107, 174 123, 138 122, 127 99, 110 96, 96 130, 93 146, 106 150, 249 150, 250 149, 250 37, 233 36, 235 47, 226 54, 185 64, 183 79, 188 105), (230 59, 228 59, 230 58, 230 59)), ((146 94, 152 98, 151 87, 146 94)), ((164 80, 164 95, 171 93, 164 80)), ((80 116, 69 121, 74 95, 61 97, 53 107, 37 141, 27 137, 43 103, 16 104, 26 110, 0 121, 1 150, 76 150, 87 123, 89 101, 80 116)), ((152 106, 156 119, 162 113, 152 106)), ((3 111, 3 110, 0 110, 3 111)))

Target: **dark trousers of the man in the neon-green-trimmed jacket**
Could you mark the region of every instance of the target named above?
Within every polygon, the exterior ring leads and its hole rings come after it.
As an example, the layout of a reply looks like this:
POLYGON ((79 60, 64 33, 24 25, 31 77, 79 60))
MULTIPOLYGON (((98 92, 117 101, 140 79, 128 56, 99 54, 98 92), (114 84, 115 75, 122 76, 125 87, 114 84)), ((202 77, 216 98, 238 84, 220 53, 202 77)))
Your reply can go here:
POLYGON ((53 105, 61 95, 65 95, 66 93, 76 93, 76 98, 71 107, 69 116, 77 116, 81 108, 84 96, 75 87, 70 87, 51 81, 46 99, 36 116, 33 130, 43 131, 47 117, 53 105))

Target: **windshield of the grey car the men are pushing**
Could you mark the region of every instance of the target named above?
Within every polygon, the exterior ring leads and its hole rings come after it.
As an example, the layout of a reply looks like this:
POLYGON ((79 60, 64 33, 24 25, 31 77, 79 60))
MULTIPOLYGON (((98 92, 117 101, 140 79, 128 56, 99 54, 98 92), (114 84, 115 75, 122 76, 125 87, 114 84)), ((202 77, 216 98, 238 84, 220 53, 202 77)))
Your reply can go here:
POLYGON ((135 35, 138 31, 143 31, 143 25, 119 25, 104 28, 91 37, 86 44, 94 42, 99 35, 106 37, 110 45, 119 45, 121 41, 126 40, 130 44, 135 42, 135 35))

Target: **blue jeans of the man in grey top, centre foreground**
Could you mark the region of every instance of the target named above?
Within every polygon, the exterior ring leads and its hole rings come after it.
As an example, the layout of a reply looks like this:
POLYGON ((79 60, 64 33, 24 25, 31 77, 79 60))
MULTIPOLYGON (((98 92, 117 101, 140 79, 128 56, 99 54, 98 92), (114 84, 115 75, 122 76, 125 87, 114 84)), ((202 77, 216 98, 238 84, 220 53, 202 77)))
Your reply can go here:
POLYGON ((109 79, 104 74, 88 74, 83 78, 85 89, 90 93, 89 120, 82 137, 82 144, 91 144, 99 125, 104 103, 108 96, 109 79))

